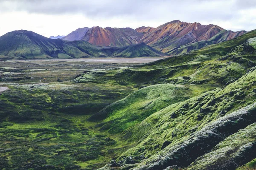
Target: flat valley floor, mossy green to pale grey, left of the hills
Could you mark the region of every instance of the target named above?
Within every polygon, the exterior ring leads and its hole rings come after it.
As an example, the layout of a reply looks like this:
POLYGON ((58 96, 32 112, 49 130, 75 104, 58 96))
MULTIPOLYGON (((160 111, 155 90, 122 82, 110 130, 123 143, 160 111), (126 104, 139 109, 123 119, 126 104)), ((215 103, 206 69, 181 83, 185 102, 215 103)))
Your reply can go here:
POLYGON ((87 119, 137 88, 70 80, 86 70, 157 59, 0 61, 0 169, 91 170, 127 150, 130 144, 98 131, 87 119))

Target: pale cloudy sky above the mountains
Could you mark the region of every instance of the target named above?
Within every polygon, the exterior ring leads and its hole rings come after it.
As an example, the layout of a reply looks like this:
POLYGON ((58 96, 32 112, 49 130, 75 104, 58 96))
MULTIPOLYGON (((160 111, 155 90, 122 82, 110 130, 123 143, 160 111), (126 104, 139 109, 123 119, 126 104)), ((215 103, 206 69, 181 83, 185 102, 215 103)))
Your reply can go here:
POLYGON ((0 36, 25 29, 45 37, 83 27, 157 27, 172 20, 256 29, 256 0, 0 0, 0 36))

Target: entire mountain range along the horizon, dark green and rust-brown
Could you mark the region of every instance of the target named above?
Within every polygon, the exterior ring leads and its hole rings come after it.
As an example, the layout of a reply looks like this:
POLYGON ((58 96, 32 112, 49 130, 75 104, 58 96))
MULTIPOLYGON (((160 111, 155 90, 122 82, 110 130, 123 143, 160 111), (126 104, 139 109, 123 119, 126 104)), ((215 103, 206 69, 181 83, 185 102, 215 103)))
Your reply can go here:
POLYGON ((132 28, 101 28, 99 26, 84 27, 78 28, 67 36, 52 36, 50 39, 32 31, 20 30, 0 37, 0 58, 174 56, 231 40, 244 33, 246 31, 233 32, 212 24, 206 26, 201 23, 186 23, 180 20, 165 23, 157 28, 142 26, 135 30, 132 28), (78 44, 82 48, 77 46, 78 44), (125 47, 128 45, 132 46, 125 47), (117 55, 116 52, 105 53, 106 49, 107 51, 126 49, 126 52, 124 55, 121 55, 121 52, 117 55), (127 49, 133 51, 127 52, 127 49), (91 51, 94 52, 91 53, 91 51), (130 56, 130 54, 135 55, 130 56))

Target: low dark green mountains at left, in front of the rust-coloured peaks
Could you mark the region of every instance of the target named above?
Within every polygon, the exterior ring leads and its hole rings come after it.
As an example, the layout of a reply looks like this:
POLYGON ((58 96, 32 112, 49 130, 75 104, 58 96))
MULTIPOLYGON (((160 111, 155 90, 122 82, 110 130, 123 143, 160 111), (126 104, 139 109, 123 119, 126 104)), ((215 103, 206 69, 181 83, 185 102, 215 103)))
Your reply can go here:
POLYGON ((164 56, 144 43, 123 47, 97 47, 83 40, 54 40, 26 30, 12 31, 1 36, 0 55, 15 59, 164 56))

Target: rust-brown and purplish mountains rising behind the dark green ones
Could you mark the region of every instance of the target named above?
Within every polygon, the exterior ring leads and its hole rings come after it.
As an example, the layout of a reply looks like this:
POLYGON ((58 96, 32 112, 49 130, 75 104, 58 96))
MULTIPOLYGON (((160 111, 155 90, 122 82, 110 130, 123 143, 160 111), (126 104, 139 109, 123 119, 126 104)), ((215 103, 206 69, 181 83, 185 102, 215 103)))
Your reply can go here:
POLYGON ((165 23, 157 28, 142 26, 135 30, 132 28, 101 28, 99 26, 85 28, 84 31, 81 30, 83 28, 79 28, 70 33, 73 35, 79 32, 79 36, 72 38, 66 36, 62 39, 70 41, 85 40, 98 46, 125 46, 144 42, 163 53, 177 55, 193 49, 200 49, 207 45, 231 40, 246 32, 227 31, 212 24, 205 26, 201 25, 201 23, 186 23, 180 20, 165 23), (215 39, 213 40, 212 37, 215 37, 215 39))

